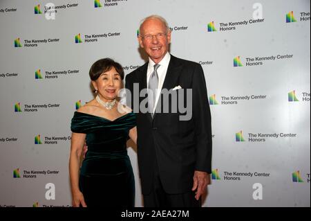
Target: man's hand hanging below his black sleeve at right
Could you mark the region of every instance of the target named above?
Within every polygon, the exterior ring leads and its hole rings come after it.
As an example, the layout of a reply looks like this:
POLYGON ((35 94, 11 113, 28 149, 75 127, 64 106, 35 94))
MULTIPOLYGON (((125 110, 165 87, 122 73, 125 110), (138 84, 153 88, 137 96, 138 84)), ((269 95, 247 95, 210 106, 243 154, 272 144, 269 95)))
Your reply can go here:
POLYGON ((194 186, 192 191, 196 191, 196 200, 207 191, 207 185, 211 183, 211 177, 208 173, 203 171, 194 171, 194 186))

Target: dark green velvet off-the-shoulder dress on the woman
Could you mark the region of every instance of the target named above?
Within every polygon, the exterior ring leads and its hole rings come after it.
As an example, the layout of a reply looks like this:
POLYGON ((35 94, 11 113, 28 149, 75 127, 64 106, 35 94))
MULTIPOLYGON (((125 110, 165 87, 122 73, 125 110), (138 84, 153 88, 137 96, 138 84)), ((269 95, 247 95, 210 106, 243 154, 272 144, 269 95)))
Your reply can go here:
POLYGON ((79 175, 79 188, 88 207, 133 207, 135 180, 126 150, 134 113, 115 121, 75 112, 71 131, 86 134, 88 151, 79 175))

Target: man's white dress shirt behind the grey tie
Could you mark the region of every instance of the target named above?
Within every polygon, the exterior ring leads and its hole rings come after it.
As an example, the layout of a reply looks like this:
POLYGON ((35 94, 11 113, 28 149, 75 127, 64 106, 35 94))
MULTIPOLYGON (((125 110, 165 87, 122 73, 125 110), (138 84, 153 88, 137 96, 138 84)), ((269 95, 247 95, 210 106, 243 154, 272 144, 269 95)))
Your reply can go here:
MULTIPOLYGON (((156 103, 153 107, 153 113, 156 110, 156 106, 158 104, 158 100, 160 98, 160 91, 162 90, 163 87, 163 83, 165 80, 165 76, 167 76, 167 68, 169 67, 169 61, 171 60, 171 55, 169 54, 169 52, 167 52, 167 54, 164 56, 164 58, 162 58, 162 60, 158 63, 160 64, 160 67, 158 67, 157 69, 157 73, 158 73, 158 90, 156 91, 156 103)), ((149 78, 151 76, 151 73, 153 73, 154 71, 154 65, 156 63, 153 62, 153 60, 151 60, 151 58, 149 58, 149 64, 148 64, 148 69, 147 69, 147 89, 149 89, 149 78)))

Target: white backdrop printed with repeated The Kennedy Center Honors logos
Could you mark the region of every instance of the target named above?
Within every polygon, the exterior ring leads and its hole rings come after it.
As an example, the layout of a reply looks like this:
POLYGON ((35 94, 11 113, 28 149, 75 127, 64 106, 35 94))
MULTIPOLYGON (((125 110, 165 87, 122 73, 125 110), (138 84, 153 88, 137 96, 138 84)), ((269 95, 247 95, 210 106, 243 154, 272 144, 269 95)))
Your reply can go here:
MULTIPOLYGON (((203 206, 310 206, 310 0, 0 1, 0 206, 70 206, 73 112, 100 58, 144 64, 140 20, 205 71, 213 128, 203 206)), ((135 206, 143 206, 135 148, 135 206)))

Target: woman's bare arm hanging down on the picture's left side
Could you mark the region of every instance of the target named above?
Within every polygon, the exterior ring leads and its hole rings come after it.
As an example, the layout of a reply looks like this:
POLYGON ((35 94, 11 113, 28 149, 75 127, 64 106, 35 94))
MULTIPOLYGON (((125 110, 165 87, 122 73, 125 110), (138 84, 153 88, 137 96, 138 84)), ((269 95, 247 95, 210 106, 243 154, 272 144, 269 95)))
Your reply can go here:
POLYGON ((79 207, 80 204, 82 204, 83 207, 86 207, 83 194, 79 190, 79 166, 80 166, 79 162, 85 138, 86 134, 78 134, 74 132, 71 136, 69 175, 70 175, 71 194, 73 196, 74 207, 79 207))

